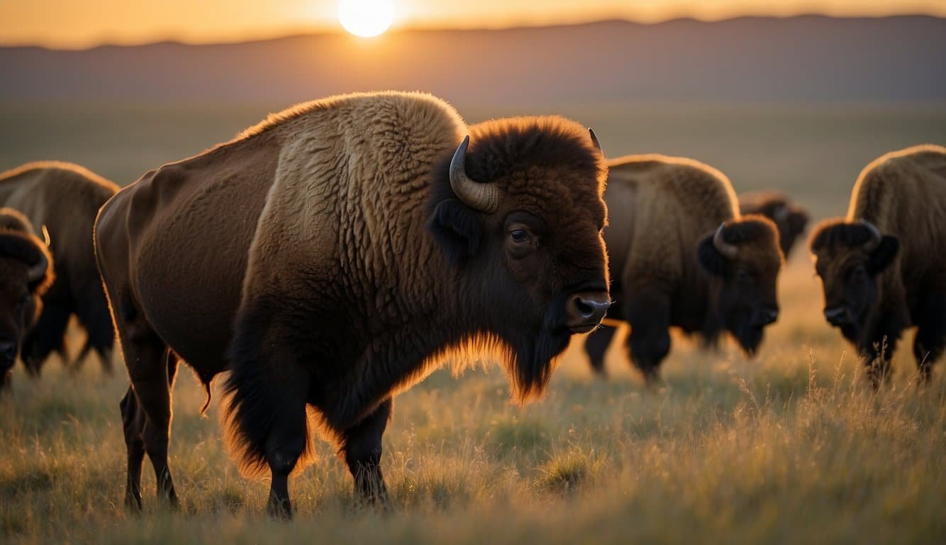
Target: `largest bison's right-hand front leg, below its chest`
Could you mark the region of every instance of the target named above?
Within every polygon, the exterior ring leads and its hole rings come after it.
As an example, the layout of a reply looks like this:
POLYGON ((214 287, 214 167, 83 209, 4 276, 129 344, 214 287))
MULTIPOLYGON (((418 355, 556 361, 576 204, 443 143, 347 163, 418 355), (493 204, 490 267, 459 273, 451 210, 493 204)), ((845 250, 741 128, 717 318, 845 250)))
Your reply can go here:
POLYGON ((391 398, 386 399, 373 413, 344 431, 342 451, 355 478, 355 496, 375 505, 388 502, 388 489, 381 475, 381 436, 388 427, 393 405, 391 398))

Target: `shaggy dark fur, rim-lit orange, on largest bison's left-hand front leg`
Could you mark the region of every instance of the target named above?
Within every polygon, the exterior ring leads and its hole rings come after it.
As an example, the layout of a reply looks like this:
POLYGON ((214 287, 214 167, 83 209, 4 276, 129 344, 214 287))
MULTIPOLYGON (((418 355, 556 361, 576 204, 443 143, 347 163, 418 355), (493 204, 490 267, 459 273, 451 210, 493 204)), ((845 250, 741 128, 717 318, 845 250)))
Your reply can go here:
POLYGON ((301 388, 307 381, 287 379, 256 359, 233 360, 231 368, 223 388, 221 428, 240 473, 251 478, 265 474, 272 464, 293 472, 307 466, 312 449, 301 388))

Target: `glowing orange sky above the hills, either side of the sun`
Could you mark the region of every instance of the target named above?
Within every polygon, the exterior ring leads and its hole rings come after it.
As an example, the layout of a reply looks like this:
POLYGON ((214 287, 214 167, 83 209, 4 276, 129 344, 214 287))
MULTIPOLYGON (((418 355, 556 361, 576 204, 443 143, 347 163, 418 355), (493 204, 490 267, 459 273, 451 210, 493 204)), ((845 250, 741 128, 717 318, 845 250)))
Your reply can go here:
MULTIPOLYGON (((503 27, 738 15, 946 17, 946 0, 394 0, 394 28, 503 27)), ((340 29, 338 0, 0 0, 0 44, 81 48, 232 42, 340 29)))

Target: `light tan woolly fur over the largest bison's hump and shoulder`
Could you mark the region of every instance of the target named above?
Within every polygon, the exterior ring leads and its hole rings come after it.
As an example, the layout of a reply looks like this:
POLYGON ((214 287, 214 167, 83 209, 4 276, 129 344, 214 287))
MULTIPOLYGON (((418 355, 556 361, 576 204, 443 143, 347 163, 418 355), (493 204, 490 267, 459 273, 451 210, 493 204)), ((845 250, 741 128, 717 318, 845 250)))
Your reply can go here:
MULTIPOLYGON (((411 263, 395 267, 390 260, 404 255, 408 233, 423 232, 430 166, 463 138, 460 115, 430 95, 390 93, 337 97, 307 106, 305 116, 280 119, 270 130, 283 146, 251 246, 244 300, 289 280, 272 277, 272 260, 320 270, 341 264, 352 275, 342 282, 352 290, 396 290, 412 284, 397 274, 423 276, 429 255, 415 252, 434 251, 430 245, 416 244, 411 263), (370 277, 357 277, 364 274, 370 277)), ((395 300, 384 290, 359 295, 395 300)), ((398 295, 407 303, 406 293, 398 295)), ((387 310, 396 319, 416 309, 387 310)))

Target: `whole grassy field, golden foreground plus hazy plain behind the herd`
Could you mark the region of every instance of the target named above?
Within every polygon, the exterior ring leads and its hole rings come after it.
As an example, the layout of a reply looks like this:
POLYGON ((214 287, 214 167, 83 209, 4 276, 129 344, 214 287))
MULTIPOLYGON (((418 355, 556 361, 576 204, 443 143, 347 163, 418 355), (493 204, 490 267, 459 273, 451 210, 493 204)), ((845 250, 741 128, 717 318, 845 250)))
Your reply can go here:
MULTIPOLYGON (((281 105, 2 104, 0 169, 56 158, 119 184, 225 140, 281 105)), ((461 108, 471 120, 488 112, 461 108)), ((548 109, 546 109, 548 110, 548 109)), ((572 105, 552 109, 599 133, 608 154, 692 155, 737 190, 779 186, 823 218, 846 210, 850 185, 889 149, 946 142, 946 106, 572 105)), ((127 513, 118 400, 121 365, 77 374, 50 361, 22 369, 0 398, 0 541, 451 543, 946 542, 946 378, 913 383, 912 335, 880 393, 821 318, 802 249, 780 277, 780 321, 762 353, 703 352, 675 337, 667 386, 646 390, 608 355, 591 377, 580 341, 548 396, 509 402, 499 369, 438 372, 398 396, 385 435, 389 512, 361 509, 335 453, 291 492, 297 517, 263 515, 268 483, 245 481, 207 418, 195 378, 175 388, 171 468, 181 512, 154 501, 127 513)), ((216 388, 215 388, 216 390, 216 388)))

